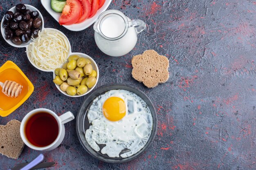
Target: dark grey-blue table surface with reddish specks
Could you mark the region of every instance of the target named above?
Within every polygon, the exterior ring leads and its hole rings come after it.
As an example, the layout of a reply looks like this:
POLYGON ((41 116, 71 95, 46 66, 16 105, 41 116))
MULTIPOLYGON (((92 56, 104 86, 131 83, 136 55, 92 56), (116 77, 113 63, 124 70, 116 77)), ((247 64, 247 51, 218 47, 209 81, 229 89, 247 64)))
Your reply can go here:
MULTIPOLYGON (((123 57, 101 53, 92 26, 73 32, 60 26, 39 0, 0 0, 0 19, 18 3, 38 8, 45 27, 63 31, 73 52, 90 55, 99 66, 97 87, 124 83, 144 91, 158 116, 157 136, 143 155, 122 164, 101 162, 79 143, 75 120, 65 124, 61 146, 44 152, 55 161, 49 170, 255 170, 256 169, 256 1, 255 0, 113 0, 108 9, 147 24, 135 48, 123 57), (170 78, 153 89, 131 76, 131 58, 154 49, 170 61, 170 78)), ((34 84, 34 93, 0 124, 19 121, 35 108, 58 115, 76 113, 86 98, 61 94, 52 73, 38 71, 25 49, 0 37, 0 65, 15 62, 34 84)), ((25 146, 17 160, 0 156, 0 169, 31 161, 40 152, 25 146)))

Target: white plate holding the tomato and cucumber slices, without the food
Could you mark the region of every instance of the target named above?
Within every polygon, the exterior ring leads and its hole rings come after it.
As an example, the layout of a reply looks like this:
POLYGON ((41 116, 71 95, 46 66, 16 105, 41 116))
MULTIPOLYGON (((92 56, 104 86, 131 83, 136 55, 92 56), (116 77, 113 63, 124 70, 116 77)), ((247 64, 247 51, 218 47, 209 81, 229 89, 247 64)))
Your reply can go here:
MULTIPOLYGON (((43 4, 43 6, 45 7, 46 11, 48 11, 48 13, 50 15, 52 15, 52 17, 58 22, 58 19, 61 16, 61 13, 56 13, 52 10, 51 8, 51 0, 41 0, 41 3, 43 4)), ((106 9, 108 8, 108 6, 110 5, 111 0, 106 0, 104 5, 97 11, 97 13, 89 19, 86 19, 84 22, 81 22, 79 24, 71 24, 71 25, 63 25, 66 29, 69 29, 70 31, 81 31, 84 30, 86 28, 88 28, 89 26, 91 26, 98 18, 98 16, 106 11, 106 9)))

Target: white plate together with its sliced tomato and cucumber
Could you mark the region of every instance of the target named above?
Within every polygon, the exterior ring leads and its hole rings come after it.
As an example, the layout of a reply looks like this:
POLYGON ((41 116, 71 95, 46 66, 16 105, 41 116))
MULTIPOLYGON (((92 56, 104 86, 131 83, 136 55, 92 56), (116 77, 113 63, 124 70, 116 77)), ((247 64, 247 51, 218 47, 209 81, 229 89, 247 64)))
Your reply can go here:
POLYGON ((91 26, 112 0, 41 0, 52 17, 71 31, 91 26))

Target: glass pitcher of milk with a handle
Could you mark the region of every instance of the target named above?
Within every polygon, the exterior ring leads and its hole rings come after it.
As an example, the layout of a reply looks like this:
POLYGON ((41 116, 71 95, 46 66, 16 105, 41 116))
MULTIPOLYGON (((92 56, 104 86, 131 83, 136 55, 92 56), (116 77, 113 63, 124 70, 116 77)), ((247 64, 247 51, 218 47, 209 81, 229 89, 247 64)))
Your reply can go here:
POLYGON ((101 13, 93 26, 95 42, 99 49, 114 57, 129 53, 137 43, 137 33, 145 28, 144 21, 130 20, 117 10, 101 13))

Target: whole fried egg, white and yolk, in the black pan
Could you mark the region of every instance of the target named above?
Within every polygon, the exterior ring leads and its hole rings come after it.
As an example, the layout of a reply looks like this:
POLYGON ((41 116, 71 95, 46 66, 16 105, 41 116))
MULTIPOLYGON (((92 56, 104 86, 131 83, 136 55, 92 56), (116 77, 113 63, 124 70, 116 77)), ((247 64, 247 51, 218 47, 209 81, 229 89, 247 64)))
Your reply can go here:
POLYGON ((96 97, 87 117, 92 125, 85 132, 86 141, 97 152, 98 144, 106 145, 101 153, 109 157, 126 158, 139 152, 153 128, 146 102, 126 90, 111 90, 96 97))

